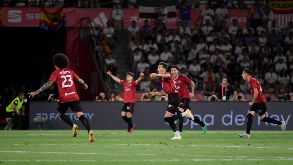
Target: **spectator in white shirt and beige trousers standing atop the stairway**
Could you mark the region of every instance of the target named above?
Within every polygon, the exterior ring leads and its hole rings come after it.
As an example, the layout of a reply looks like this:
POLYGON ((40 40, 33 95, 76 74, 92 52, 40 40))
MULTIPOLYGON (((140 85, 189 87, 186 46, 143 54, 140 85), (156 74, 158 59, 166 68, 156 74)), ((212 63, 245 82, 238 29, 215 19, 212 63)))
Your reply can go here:
POLYGON ((115 9, 112 11, 111 18, 114 21, 114 36, 122 29, 123 11, 119 9, 119 3, 115 4, 115 9))

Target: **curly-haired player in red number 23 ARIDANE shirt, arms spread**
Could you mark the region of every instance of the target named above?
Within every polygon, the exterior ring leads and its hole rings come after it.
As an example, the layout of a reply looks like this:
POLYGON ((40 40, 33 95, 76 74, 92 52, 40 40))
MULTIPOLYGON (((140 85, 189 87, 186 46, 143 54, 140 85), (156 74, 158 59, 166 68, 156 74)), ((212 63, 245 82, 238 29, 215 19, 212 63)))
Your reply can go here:
POLYGON ((84 89, 87 89, 88 86, 84 83, 84 80, 81 80, 81 78, 79 78, 72 70, 68 69, 69 60, 66 55, 62 53, 54 55, 53 62, 56 70, 52 73, 50 80, 39 90, 28 93, 30 94, 29 97, 31 96, 33 98, 39 92, 46 90, 54 82, 56 82, 59 91, 59 103, 57 106, 59 117, 70 125, 70 127, 72 127, 72 135, 73 137, 76 137, 78 127, 76 124, 71 122, 67 115, 65 115, 66 111, 70 107, 76 117, 79 118, 84 127, 88 130, 89 142, 94 142, 95 138, 93 137, 93 131, 90 128, 88 120, 82 113, 83 110, 79 102, 79 97, 76 93, 74 81, 81 84, 84 89))

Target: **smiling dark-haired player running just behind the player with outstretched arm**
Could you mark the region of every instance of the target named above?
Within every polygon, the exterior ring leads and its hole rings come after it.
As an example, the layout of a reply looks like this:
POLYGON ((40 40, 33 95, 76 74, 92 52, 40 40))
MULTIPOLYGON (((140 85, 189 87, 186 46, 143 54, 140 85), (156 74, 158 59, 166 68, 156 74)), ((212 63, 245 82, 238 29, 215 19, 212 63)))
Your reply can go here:
MULTIPOLYGON (((190 110, 189 102, 190 102, 190 98, 193 98, 193 96, 194 96, 195 84, 187 76, 179 75, 178 73, 179 73, 178 66, 172 65, 171 66, 171 74, 173 75, 173 78, 175 80, 175 85, 176 85, 176 88, 178 89, 179 97, 181 99, 180 103, 179 103, 179 108, 182 108, 184 111, 190 110), (189 90, 187 87, 188 84, 191 84, 191 94, 189 94, 189 90)), ((181 112, 177 112, 177 113, 181 113, 181 112)), ((207 123, 203 123, 196 116, 193 116, 193 117, 194 117, 194 122, 196 122, 197 124, 200 124, 202 126, 203 134, 205 134, 207 132, 207 126, 208 126, 207 123)), ((178 129, 178 132, 180 135, 182 135, 183 121, 184 121, 184 118, 180 117, 179 129, 178 129)))

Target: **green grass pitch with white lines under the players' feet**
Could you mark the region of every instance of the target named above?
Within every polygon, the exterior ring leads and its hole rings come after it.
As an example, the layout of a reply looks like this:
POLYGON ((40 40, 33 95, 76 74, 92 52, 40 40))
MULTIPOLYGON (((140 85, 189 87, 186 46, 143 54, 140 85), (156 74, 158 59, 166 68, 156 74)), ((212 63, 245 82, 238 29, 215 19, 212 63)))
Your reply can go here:
POLYGON ((293 164, 293 131, 0 131, 0 164, 293 164))

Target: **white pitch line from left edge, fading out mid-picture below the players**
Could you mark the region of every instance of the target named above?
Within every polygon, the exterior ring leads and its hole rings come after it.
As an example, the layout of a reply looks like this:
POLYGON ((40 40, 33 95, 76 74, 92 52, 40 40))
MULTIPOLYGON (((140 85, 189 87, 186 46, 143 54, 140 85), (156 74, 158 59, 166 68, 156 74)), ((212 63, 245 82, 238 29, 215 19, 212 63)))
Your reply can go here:
POLYGON ((39 152, 39 151, 0 151, 5 153, 38 153, 38 154, 87 154, 87 155, 144 155, 157 156, 157 154, 107 154, 107 153, 87 153, 87 152, 39 152))

